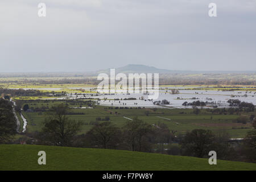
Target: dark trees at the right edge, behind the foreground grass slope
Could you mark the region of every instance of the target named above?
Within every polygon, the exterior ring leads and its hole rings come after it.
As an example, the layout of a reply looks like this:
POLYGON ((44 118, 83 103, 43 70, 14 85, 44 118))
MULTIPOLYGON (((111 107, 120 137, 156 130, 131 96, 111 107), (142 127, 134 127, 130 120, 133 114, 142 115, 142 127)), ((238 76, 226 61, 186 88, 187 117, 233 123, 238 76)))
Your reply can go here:
MULTIPOLYGON (((252 118, 252 117, 251 117, 252 118)), ((210 130, 196 129, 187 132, 180 140, 181 154, 207 158, 209 151, 216 151, 219 159, 256 162, 256 118, 241 143, 232 145, 227 133, 213 134, 210 130)))

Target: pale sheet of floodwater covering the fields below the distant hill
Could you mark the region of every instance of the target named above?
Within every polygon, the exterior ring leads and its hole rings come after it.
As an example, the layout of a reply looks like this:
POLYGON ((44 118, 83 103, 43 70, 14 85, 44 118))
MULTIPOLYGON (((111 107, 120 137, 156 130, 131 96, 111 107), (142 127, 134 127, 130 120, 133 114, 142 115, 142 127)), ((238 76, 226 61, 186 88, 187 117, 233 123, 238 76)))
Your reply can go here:
MULTIPOLYGON (((168 88, 170 89, 170 88, 168 88)), ((210 102, 206 107, 229 107, 229 99, 238 99, 241 102, 249 102, 256 105, 256 92, 254 91, 221 91, 221 90, 186 90, 185 87, 174 89, 179 90, 178 94, 170 93, 170 90, 159 90, 159 97, 156 100, 148 100, 148 96, 139 94, 68 94, 69 98, 95 98, 100 105, 119 106, 119 107, 162 107, 154 105, 154 101, 167 100, 170 108, 191 108, 192 106, 183 106, 184 102, 203 101, 210 102), (136 100, 127 100, 136 98, 136 100)))

